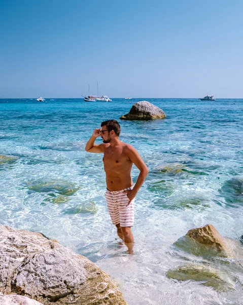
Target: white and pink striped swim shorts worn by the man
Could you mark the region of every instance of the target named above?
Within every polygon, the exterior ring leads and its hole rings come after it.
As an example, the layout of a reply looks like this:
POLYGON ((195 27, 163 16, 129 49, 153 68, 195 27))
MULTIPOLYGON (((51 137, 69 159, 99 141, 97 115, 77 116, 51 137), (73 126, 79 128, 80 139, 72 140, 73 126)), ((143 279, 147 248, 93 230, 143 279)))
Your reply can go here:
POLYGON ((126 191, 132 187, 121 191, 106 191, 108 210, 114 225, 121 227, 132 227, 134 223, 134 199, 128 204, 129 199, 126 191))

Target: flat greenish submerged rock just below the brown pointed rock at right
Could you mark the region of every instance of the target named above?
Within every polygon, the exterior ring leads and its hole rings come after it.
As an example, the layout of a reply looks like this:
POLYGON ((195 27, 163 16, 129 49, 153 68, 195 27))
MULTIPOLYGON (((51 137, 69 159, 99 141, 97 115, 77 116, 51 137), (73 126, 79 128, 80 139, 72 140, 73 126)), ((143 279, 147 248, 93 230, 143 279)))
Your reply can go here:
POLYGON ((221 291, 233 290, 235 286, 226 273, 202 264, 184 265, 176 269, 170 269, 166 275, 170 279, 179 281, 200 281, 202 285, 211 286, 221 291))

